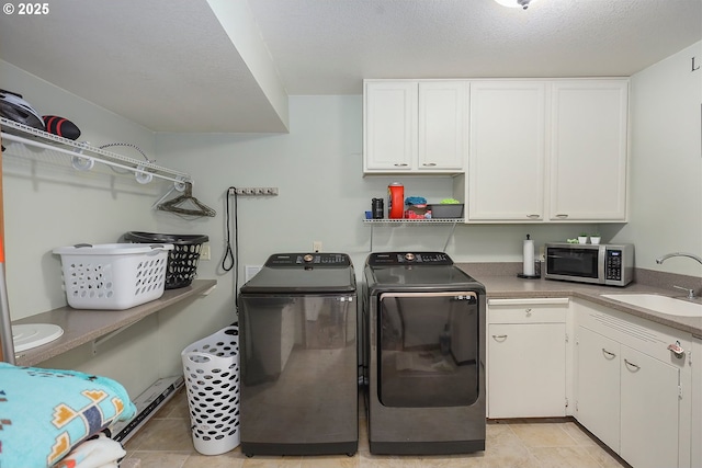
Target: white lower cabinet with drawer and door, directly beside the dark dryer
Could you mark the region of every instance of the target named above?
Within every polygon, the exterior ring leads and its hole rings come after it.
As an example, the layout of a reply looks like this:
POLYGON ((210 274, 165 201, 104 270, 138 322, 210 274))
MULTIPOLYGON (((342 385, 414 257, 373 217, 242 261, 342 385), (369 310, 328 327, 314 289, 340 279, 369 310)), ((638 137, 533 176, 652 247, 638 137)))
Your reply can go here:
POLYGON ((567 298, 488 300, 488 418, 566 415, 567 298))

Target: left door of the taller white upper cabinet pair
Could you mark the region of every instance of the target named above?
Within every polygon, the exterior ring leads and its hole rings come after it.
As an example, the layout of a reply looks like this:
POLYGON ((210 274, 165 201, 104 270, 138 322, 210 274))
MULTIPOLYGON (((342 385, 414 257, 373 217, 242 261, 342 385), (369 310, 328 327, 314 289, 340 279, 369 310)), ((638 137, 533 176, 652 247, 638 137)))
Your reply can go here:
POLYGON ((469 221, 542 221, 546 84, 471 83, 469 221))

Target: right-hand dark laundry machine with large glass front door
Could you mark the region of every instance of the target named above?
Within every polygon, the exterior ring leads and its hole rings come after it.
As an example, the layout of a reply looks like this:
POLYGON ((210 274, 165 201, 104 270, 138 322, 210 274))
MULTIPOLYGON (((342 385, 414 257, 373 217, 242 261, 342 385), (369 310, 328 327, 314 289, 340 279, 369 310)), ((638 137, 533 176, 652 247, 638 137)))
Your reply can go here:
POLYGON ((485 286, 443 252, 372 253, 363 374, 372 454, 485 449, 485 286))

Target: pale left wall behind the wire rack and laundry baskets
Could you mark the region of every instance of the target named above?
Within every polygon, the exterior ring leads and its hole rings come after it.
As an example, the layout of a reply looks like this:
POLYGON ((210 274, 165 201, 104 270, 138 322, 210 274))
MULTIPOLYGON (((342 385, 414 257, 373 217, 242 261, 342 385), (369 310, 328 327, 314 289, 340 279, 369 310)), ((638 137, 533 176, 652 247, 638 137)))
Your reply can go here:
MULTIPOLYGON (((82 132, 81 140, 93 146, 129 142, 149 158, 155 157, 151 132, 4 61, 0 61, 0 77, 3 89, 23 94, 41 114, 73 121, 82 132)), ((156 230, 151 204, 172 185, 158 180, 140 185, 134 176, 101 170, 99 164, 91 172, 77 172, 68 157, 9 141, 4 146, 5 272, 11 317, 18 320, 66 305, 60 260, 52 253, 54 248, 79 242, 110 243, 125 231, 156 230)), ((111 150, 141 158, 132 148, 111 150)), ((100 346, 94 356, 87 344, 41 365, 115 378, 135 397, 156 377, 174 374, 173 361, 179 356, 161 359, 157 331, 162 323, 172 327, 178 317, 185 315, 184 307, 169 308, 162 317, 154 315, 143 320, 100 346)), ((195 329, 197 332, 202 330, 195 329)), ((194 341, 190 338, 189 342, 194 341)))

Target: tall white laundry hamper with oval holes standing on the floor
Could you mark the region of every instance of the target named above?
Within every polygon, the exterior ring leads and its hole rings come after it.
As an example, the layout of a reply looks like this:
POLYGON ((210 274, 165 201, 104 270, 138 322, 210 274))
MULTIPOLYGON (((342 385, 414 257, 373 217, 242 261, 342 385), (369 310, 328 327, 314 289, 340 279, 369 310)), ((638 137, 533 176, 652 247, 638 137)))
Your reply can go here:
POLYGON ((236 448, 239 431, 239 329, 227 327, 181 353, 193 445, 203 455, 236 448))

